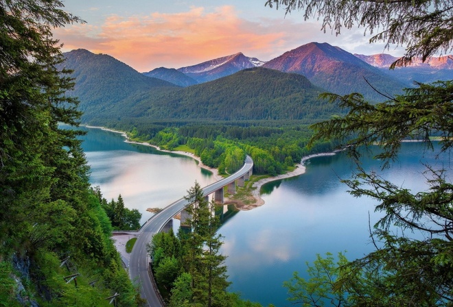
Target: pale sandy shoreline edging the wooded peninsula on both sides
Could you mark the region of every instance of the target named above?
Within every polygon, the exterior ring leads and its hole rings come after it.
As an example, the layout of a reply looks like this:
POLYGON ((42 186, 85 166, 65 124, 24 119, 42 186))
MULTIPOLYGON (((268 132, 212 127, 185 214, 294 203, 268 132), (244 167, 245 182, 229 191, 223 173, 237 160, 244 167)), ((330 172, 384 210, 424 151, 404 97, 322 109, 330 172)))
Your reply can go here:
MULTIPOLYGON (((134 141, 134 140, 130 140, 128 138, 126 132, 122 132, 122 131, 119 131, 119 130, 113 130, 113 129, 109 129, 109 128, 106 128, 106 127, 96 127, 96 126, 89 126, 89 125, 83 125, 83 126, 87 127, 87 128, 95 128, 95 129, 100 129, 100 130, 104 130, 104 131, 108 131, 108 132, 119 133, 119 134, 121 134, 121 136, 124 136, 124 138, 125 138, 124 142, 126 142, 126 143, 136 144, 136 145, 143 145, 143 146, 150 146, 150 147, 153 147, 154 149, 159 150, 159 151, 163 151, 163 152, 167 152, 167 153, 176 153, 176 154, 179 154, 181 156, 187 156, 189 158, 193 158, 194 160, 196 160, 198 162, 198 165, 200 167, 202 167, 203 169, 207 169, 208 171, 211 171, 212 175, 214 176, 214 179, 216 179, 217 181, 223 179, 223 177, 218 174, 218 169, 214 169, 212 167, 208 167, 207 165, 203 164, 201 162, 200 157, 195 156, 194 153, 189 153, 187 151, 170 151, 170 150, 167 150, 167 149, 161 149, 161 147, 156 146, 156 145, 151 145, 150 143, 137 142, 137 141, 134 141)), ((334 156, 335 154, 336 153, 334 153, 334 152, 327 152, 327 153, 315 153, 315 154, 312 154, 310 156, 305 156, 305 157, 303 157, 301 159, 300 163, 296 164, 296 168, 294 169, 294 171, 290 171, 288 173, 277 175, 275 177, 264 178, 264 179, 258 180, 257 182, 254 182, 253 185, 251 186, 251 195, 252 195, 252 197, 255 200, 254 204, 236 206, 236 208, 238 210, 251 210, 253 208, 257 208, 259 206, 263 206, 265 201, 264 201, 264 199, 262 199, 262 197, 260 195, 260 191, 261 191, 261 188, 262 188, 262 186, 264 184, 267 184, 268 182, 272 182, 272 181, 276 181, 276 180, 282 180, 282 179, 286 179, 286 178, 296 177, 296 176, 302 175, 303 173, 305 173, 304 162, 306 160, 309 160, 311 158, 321 157, 321 156, 334 156)), ((237 201, 235 201, 234 199, 228 199, 228 198, 224 199, 224 203, 225 204, 235 204, 235 202, 237 202, 237 201)))

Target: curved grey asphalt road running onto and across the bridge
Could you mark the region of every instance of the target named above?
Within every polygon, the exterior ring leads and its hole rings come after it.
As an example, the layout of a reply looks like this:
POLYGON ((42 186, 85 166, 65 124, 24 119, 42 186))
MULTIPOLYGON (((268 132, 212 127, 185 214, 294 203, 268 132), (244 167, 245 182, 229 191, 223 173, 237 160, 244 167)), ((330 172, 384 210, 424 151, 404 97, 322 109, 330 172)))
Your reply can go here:
MULTIPOLYGON (((223 186, 237 180, 251 171, 253 168, 253 160, 250 156, 246 156, 244 166, 233 173, 233 175, 219 180, 213 184, 209 184, 202 188, 204 195, 209 195, 219 190, 223 186)), ((150 258, 146 251, 146 244, 151 241, 153 234, 160 232, 163 226, 170 221, 178 212, 181 212, 189 203, 186 199, 181 198, 165 207, 161 212, 154 214, 139 230, 137 241, 135 242, 132 253, 130 254, 129 275, 133 282, 140 282, 141 297, 146 299, 148 306, 161 307, 161 301, 152 286, 150 275, 148 275, 148 265, 150 258)), ((162 306, 163 307, 163 306, 162 306)))

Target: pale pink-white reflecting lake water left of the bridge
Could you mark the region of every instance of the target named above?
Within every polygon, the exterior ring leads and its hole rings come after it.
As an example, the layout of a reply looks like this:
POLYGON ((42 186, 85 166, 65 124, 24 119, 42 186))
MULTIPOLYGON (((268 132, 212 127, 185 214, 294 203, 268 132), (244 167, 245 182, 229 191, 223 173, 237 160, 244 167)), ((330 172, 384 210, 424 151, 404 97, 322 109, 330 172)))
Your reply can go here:
POLYGON ((152 216, 147 208, 164 208, 187 194, 195 181, 201 186, 215 181, 192 158, 125 143, 115 132, 82 129, 89 131, 82 147, 91 167, 91 184, 100 186, 108 201, 121 194, 126 207, 141 212, 141 223, 152 216))

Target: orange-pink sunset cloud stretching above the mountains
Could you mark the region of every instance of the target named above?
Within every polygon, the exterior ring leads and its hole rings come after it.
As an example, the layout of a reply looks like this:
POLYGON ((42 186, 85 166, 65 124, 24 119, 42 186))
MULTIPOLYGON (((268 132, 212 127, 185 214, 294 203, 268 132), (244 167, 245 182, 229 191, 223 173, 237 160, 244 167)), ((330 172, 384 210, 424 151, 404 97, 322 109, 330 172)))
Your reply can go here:
POLYGON ((137 69, 179 68, 213 58, 242 52, 270 60, 283 51, 310 42, 319 26, 268 19, 246 21, 232 6, 213 12, 191 8, 188 12, 140 16, 111 15, 102 25, 73 25, 56 29, 54 36, 65 44, 64 51, 84 48, 107 53, 137 69), (289 29, 292 28, 292 32, 289 29))

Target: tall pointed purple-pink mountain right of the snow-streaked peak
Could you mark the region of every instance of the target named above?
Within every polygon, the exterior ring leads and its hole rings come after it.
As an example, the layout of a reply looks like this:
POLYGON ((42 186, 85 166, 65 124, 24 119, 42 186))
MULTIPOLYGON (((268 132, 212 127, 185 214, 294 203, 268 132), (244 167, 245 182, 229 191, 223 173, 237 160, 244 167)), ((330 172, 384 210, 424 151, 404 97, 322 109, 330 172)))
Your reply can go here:
POLYGON ((311 42, 283 53, 266 62, 263 67, 299 73, 329 92, 339 95, 362 93, 372 101, 384 99, 376 90, 392 95, 401 93, 402 88, 408 87, 408 84, 386 75, 353 54, 327 43, 311 42))

